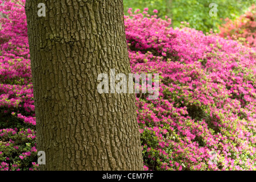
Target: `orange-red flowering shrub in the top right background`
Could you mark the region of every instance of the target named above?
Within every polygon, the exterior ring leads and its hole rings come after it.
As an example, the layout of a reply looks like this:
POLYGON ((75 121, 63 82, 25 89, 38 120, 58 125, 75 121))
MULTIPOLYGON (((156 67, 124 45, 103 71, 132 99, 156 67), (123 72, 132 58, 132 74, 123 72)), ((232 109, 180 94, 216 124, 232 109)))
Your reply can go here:
POLYGON ((256 46, 256 6, 253 5, 245 14, 233 20, 225 19, 226 23, 219 27, 219 35, 239 40, 251 47, 256 46))

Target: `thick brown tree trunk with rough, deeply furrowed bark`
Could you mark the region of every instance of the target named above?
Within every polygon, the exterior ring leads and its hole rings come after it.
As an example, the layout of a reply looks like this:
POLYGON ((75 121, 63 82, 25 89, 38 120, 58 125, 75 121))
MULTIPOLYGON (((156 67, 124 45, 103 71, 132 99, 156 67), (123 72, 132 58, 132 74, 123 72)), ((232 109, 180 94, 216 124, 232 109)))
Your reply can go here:
POLYGON ((135 95, 97 91, 100 73, 130 73, 122 0, 27 0, 25 9, 39 169, 142 170, 135 95))

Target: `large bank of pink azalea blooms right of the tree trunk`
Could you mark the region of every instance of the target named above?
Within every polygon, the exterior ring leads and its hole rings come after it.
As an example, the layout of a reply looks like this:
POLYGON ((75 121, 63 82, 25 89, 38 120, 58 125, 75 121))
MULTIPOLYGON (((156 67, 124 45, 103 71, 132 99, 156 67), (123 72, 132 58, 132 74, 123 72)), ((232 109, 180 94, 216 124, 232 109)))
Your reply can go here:
POLYGON ((137 98, 145 169, 256 169, 255 49, 129 11, 131 69, 161 78, 137 98))

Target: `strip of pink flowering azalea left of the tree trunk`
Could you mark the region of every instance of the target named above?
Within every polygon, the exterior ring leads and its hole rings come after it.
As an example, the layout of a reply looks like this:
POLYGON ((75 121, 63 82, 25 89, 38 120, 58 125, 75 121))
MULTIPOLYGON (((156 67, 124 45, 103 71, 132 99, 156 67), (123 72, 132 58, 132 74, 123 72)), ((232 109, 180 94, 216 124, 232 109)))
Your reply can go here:
POLYGON ((18 1, 0 11, 7 16, 0 19, 0 170, 37 170, 26 15, 18 1))

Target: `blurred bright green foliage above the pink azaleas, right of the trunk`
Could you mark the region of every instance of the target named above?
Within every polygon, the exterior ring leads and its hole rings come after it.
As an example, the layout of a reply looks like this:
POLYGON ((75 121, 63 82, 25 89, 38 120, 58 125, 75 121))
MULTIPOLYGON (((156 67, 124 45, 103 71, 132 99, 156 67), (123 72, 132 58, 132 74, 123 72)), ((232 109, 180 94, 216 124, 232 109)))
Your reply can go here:
POLYGON ((256 0, 123 0, 125 14, 129 7, 140 9, 143 11, 145 7, 149 8, 149 14, 153 14, 153 10, 158 10, 159 18, 165 15, 172 19, 173 27, 179 27, 181 22, 189 22, 191 28, 209 32, 210 29, 218 32, 219 24, 223 23, 225 18, 234 20, 239 15, 245 13, 256 0), (209 11, 213 7, 209 7, 210 3, 218 5, 217 16, 210 16, 209 11))

